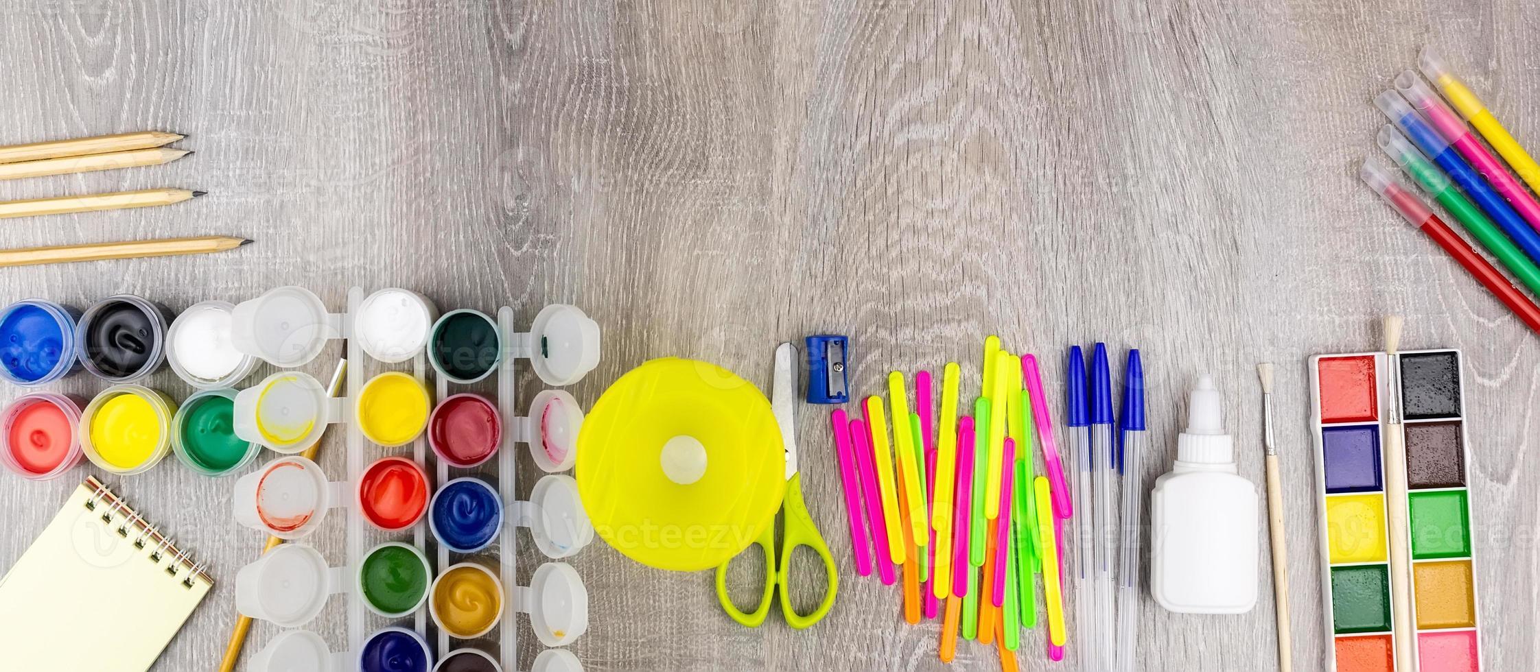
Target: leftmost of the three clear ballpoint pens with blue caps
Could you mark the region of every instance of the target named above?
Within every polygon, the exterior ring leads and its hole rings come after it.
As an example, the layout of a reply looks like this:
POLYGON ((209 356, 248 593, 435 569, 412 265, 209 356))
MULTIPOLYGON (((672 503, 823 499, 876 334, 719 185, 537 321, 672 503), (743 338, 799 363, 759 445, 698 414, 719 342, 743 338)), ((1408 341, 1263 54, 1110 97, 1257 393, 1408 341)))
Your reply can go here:
POLYGON ((1069 455, 1080 469, 1069 481, 1069 498, 1075 515, 1070 517, 1070 538, 1064 549, 1072 554, 1064 564, 1073 567, 1070 572, 1070 589, 1075 595, 1075 650, 1081 661, 1081 669, 1101 669, 1096 664, 1096 646, 1092 638, 1090 606, 1096 601, 1096 587, 1092 583, 1090 554, 1090 418, 1086 408, 1086 357, 1080 346, 1069 348, 1069 366, 1066 368, 1066 409, 1064 426, 1069 443, 1069 455), (1070 564, 1073 561, 1073 564, 1070 564))

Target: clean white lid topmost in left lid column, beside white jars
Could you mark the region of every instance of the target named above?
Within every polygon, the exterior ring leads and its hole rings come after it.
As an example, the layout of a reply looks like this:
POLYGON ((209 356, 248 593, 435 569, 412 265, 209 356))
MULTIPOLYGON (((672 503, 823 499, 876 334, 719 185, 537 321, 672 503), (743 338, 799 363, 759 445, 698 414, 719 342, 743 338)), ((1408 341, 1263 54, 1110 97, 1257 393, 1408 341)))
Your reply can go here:
POLYGON ((342 338, 342 315, 328 314, 320 297, 305 288, 276 288, 240 301, 231 318, 236 349, 274 366, 303 366, 328 338, 342 338))

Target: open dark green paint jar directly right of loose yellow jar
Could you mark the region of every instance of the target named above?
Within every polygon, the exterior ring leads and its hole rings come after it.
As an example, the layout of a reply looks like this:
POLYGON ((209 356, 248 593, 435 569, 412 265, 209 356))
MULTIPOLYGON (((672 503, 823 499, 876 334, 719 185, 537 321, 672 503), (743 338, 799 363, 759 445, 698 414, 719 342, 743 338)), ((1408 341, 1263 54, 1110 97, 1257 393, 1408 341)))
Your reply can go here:
POLYGON ((206 389, 186 398, 171 420, 171 447, 189 469, 206 477, 234 474, 262 446, 236 437, 236 391, 206 389))

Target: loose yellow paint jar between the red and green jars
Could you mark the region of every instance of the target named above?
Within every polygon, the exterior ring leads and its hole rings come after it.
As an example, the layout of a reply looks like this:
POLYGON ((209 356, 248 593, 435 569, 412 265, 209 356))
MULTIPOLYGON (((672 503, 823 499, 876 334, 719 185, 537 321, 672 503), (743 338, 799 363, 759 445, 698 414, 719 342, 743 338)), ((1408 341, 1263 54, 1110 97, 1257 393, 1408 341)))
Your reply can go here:
POLYGON ((80 449, 92 464, 119 475, 156 466, 171 449, 177 404, 142 384, 114 384, 80 414, 80 449))

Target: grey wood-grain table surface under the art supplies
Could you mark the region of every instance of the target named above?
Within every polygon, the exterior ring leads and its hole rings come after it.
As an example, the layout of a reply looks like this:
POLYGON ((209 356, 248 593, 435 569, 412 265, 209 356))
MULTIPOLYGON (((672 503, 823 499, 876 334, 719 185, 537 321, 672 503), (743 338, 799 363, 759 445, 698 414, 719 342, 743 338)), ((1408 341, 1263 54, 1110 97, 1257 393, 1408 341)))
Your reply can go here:
MULTIPOLYGON (((976 389, 979 344, 998 332, 1043 357, 1056 398, 1064 349, 1106 340, 1144 352, 1149 478, 1169 469, 1186 388, 1212 371, 1241 472, 1260 483, 1252 371, 1272 360, 1301 669, 1329 647, 1304 361, 1375 349, 1377 318, 1394 311, 1408 318, 1404 348, 1465 349, 1486 663, 1526 669, 1540 660, 1528 414, 1540 340, 1355 168, 1383 123, 1371 98, 1429 42, 1517 137, 1540 143, 1540 55, 1528 48, 1540 6, 1234 5, 9 0, 0 143, 169 129, 197 154, 0 183, 0 198, 209 195, 6 221, 6 246, 206 234, 256 245, 3 269, 0 300, 137 292, 180 309, 303 284, 340 308, 350 284, 403 286, 445 308, 508 304, 521 321, 574 303, 604 329, 599 369, 571 388, 584 404, 661 355, 767 384, 775 343, 825 331, 853 338, 859 394, 893 368, 947 360, 976 389)), ((308 369, 325 375, 337 352, 308 369)), ((524 375, 528 398, 539 386, 524 375)), ((152 384, 189 392, 169 371, 152 384)), ((103 384, 77 375, 55 388, 103 384)), ((825 417, 804 408, 798 420, 808 507, 844 580, 833 614, 805 632, 778 617, 744 629, 718 609, 708 574, 647 569, 596 541, 573 560, 591 627, 571 650, 588 669, 944 667, 939 626, 904 624, 899 592, 855 575, 825 417)), ((322 464, 340 472, 336 437, 322 464)), ((536 471, 521 464, 527 492, 536 471)), ((0 564, 88 471, 0 477, 0 564)), ((209 669, 234 620, 236 569, 262 544, 231 523, 233 481, 174 460, 112 481, 213 563, 219 587, 157 664, 209 669)), ((314 541, 342 560, 340 523, 314 541)), ((527 577, 537 558, 525 555, 527 577)), ((1272 669, 1263 595, 1240 617, 1172 615, 1146 598, 1141 667, 1272 669)), ((317 621, 334 647, 342 612, 334 603, 317 621)), ((257 624, 246 655, 277 632, 257 624)), ((527 666, 536 644, 521 632, 527 666)), ((1040 652, 1035 632, 1023 667, 1064 667, 1040 652)), ((992 647, 958 649, 955 667, 996 666, 992 647)))

